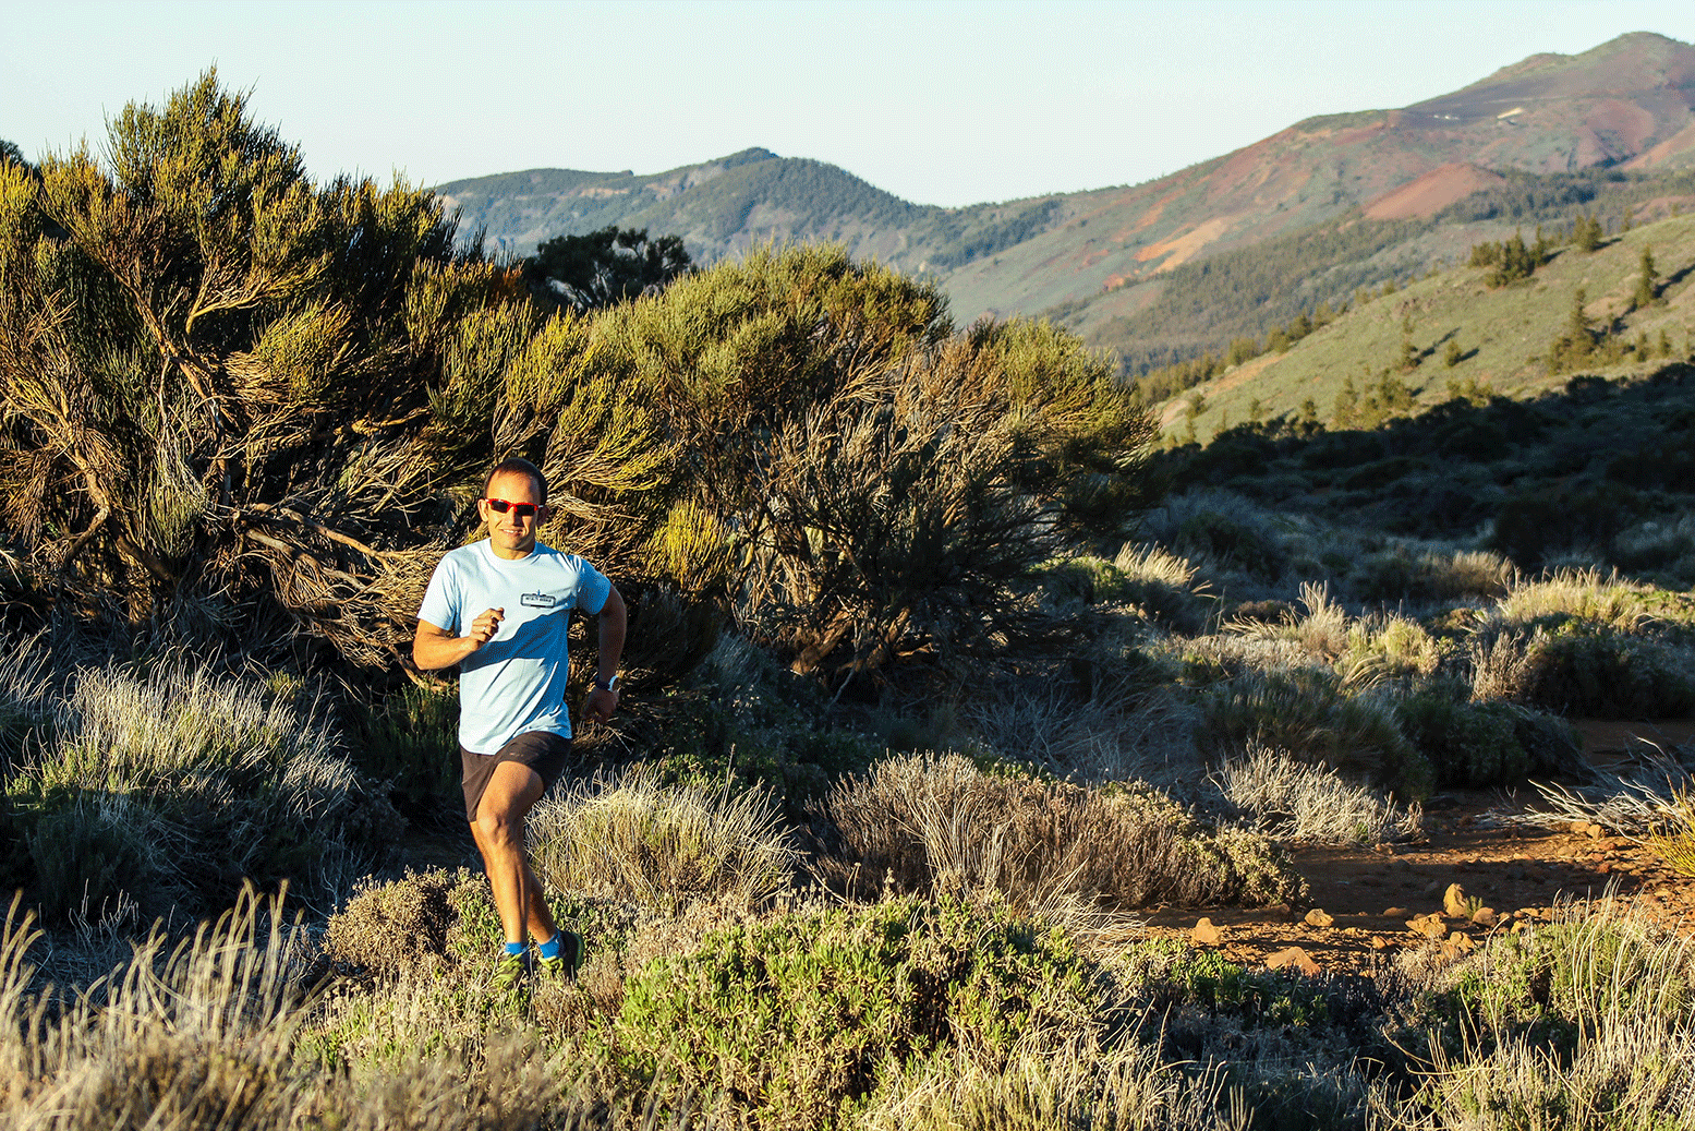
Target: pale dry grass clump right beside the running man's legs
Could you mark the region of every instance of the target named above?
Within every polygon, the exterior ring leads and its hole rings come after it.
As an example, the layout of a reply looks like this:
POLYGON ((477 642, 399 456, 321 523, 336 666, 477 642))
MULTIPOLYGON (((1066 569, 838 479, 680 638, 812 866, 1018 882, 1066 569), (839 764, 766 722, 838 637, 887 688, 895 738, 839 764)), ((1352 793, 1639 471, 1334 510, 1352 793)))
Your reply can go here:
POLYGON ((661 785, 646 766, 542 799, 529 841, 551 889, 659 912, 692 902, 759 907, 792 883, 798 863, 766 792, 661 785))

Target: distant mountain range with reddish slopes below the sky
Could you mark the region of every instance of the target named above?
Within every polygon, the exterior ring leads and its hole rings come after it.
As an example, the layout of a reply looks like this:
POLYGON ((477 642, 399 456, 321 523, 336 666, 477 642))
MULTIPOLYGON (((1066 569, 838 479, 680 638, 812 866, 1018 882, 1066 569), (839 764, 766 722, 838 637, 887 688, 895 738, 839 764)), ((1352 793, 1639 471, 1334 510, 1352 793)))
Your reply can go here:
POLYGON ((1683 175, 1695 170, 1692 107, 1695 47, 1632 32, 1576 56, 1531 56, 1398 110, 1309 119, 1134 187, 936 209, 831 164, 744 149, 647 176, 531 170, 441 192, 468 229, 485 227, 519 253, 607 224, 680 234, 703 263, 768 239, 839 241, 856 256, 934 275, 963 320, 1048 314, 1120 351, 1136 371, 1259 332, 1297 297, 1317 304, 1427 270, 1498 237, 1492 220, 1510 231, 1514 220, 1583 207, 1668 209, 1695 185, 1683 175), (1585 171, 1622 180, 1559 180, 1585 171), (1656 187, 1664 187, 1658 200, 1656 187), (1570 198, 1554 200, 1561 192, 1570 198), (1539 202, 1492 215, 1464 207, 1514 193, 1539 202), (1378 227, 1353 232, 1356 224, 1378 227), (1164 309, 1181 268, 1276 239, 1324 242, 1322 271, 1261 278, 1258 315, 1246 292, 1198 314, 1164 309))

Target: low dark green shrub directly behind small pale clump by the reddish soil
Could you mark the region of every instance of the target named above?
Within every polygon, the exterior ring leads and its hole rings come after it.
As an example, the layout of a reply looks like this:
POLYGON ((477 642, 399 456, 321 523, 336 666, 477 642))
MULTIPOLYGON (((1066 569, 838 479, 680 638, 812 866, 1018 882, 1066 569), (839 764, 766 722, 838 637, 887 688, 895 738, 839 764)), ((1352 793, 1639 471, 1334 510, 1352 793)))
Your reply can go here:
POLYGON ((1200 695, 1197 746, 1224 760, 1249 743, 1287 749, 1376 783, 1405 800, 1431 795, 1429 760, 1407 741, 1393 709, 1349 694, 1329 670, 1249 671, 1200 695))

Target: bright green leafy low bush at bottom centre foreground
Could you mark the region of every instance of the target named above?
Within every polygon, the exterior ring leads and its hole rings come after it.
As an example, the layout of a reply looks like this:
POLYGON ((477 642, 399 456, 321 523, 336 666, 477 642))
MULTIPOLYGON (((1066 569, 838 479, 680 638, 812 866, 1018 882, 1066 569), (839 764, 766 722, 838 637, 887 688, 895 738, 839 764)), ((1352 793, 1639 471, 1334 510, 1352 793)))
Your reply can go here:
POLYGON ((717 931, 624 989, 585 1050, 617 1090, 693 1097, 707 1123, 758 1131, 844 1126, 919 1060, 995 1070, 1107 1019, 1068 936, 946 897, 717 931))

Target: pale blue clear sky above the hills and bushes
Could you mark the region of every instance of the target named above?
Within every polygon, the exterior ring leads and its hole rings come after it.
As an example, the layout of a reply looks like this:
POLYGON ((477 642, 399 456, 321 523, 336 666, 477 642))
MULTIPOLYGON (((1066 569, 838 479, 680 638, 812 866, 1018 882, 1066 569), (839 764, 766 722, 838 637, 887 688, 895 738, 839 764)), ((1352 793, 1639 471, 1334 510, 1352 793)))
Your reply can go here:
POLYGON ((1144 181, 1695 3, 14 3, 0 137, 61 149, 217 63, 314 175, 656 173, 747 146, 920 203, 1144 181))

